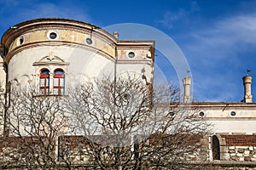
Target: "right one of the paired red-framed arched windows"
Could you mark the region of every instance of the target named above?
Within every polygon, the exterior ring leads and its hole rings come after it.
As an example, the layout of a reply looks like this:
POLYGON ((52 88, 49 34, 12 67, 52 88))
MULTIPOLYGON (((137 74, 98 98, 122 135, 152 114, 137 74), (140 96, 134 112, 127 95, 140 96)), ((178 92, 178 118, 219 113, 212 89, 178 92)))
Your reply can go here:
POLYGON ((65 74, 61 69, 56 69, 54 73, 54 94, 61 95, 65 92, 65 74))

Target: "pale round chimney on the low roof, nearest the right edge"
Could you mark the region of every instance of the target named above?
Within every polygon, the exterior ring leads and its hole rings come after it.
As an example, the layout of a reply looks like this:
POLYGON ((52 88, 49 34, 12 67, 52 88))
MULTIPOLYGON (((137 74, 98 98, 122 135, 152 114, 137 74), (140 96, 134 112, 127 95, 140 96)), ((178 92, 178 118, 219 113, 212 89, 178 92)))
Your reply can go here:
POLYGON ((245 103, 253 102, 253 95, 252 95, 252 90, 251 90, 252 79, 253 79, 253 77, 249 76, 248 74, 245 77, 242 77, 243 86, 244 86, 243 102, 245 102, 245 103))

